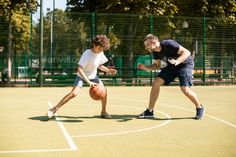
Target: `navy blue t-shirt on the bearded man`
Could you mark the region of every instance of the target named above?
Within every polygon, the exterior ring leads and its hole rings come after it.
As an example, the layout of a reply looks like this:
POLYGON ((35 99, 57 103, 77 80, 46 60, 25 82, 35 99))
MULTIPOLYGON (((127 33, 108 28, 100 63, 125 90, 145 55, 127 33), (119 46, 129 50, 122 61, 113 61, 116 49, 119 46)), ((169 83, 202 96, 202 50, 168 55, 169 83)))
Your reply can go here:
MULTIPOLYGON (((153 58, 155 60, 160 59, 166 62, 168 65, 172 65, 168 62, 168 59, 177 59, 180 54, 177 52, 179 51, 180 44, 174 40, 163 40, 160 42, 161 51, 160 52, 153 52, 153 58)), ((182 66, 193 66, 193 59, 192 56, 189 56, 183 63, 180 63, 177 67, 182 66)))

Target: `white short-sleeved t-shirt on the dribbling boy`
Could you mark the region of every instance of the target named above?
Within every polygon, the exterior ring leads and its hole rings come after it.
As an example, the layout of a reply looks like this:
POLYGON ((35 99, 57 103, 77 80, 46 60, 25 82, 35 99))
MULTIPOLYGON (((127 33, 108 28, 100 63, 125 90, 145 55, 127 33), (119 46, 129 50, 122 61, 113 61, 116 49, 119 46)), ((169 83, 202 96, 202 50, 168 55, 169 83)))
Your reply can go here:
MULTIPOLYGON (((89 79, 94 79, 97 75, 97 68, 107 61, 104 52, 94 53, 91 49, 87 49, 80 57, 78 65, 83 67, 84 73, 89 79)), ((79 73, 78 76, 82 78, 79 73)))

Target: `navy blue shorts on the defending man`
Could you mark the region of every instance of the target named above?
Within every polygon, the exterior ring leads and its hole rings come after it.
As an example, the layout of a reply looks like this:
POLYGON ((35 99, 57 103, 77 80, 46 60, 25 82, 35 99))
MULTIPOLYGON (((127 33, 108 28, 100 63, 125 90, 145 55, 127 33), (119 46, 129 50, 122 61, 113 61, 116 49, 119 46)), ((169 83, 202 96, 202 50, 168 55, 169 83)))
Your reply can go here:
POLYGON ((177 68, 174 66, 167 66, 161 70, 157 77, 162 78, 165 81, 165 85, 169 85, 176 77, 179 78, 180 86, 192 86, 193 79, 192 67, 177 68))

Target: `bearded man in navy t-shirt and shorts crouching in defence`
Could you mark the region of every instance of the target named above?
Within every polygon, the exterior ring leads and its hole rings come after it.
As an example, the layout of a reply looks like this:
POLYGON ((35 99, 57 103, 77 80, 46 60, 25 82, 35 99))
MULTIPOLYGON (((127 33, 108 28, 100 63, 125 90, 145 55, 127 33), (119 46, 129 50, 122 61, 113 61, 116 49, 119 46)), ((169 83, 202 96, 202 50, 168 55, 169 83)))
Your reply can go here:
POLYGON ((178 44, 174 40, 163 40, 149 34, 144 39, 145 49, 153 54, 154 63, 151 65, 139 64, 141 70, 158 70, 161 68, 161 60, 167 65, 157 75, 152 84, 148 108, 138 115, 138 118, 154 118, 153 109, 159 96, 160 86, 170 84, 176 77, 179 78, 181 91, 186 95, 196 107, 195 119, 204 116, 205 109, 200 104, 197 95, 190 89, 192 86, 193 58, 189 50, 178 44))

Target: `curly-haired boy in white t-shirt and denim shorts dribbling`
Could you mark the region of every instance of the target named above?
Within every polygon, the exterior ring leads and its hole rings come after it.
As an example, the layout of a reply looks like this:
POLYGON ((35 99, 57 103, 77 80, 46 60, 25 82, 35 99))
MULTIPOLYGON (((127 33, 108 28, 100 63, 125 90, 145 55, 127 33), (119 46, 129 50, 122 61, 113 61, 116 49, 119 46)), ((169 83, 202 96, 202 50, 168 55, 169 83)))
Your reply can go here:
MULTIPOLYGON (((49 119, 52 118, 52 116, 61 106, 78 95, 79 90, 83 87, 84 82, 89 84, 90 87, 96 86, 96 84, 103 85, 102 81, 97 76, 98 68, 104 72, 110 73, 111 75, 116 74, 117 71, 115 69, 109 69, 103 65, 108 61, 103 51, 110 48, 109 39, 105 35, 97 35, 93 39, 92 44, 93 47, 91 49, 85 50, 79 60, 74 87, 72 88, 71 92, 68 93, 56 106, 48 110, 47 116, 49 119)), ((111 116, 106 111, 107 96, 101 100, 101 103, 101 117, 110 119, 111 116)))

